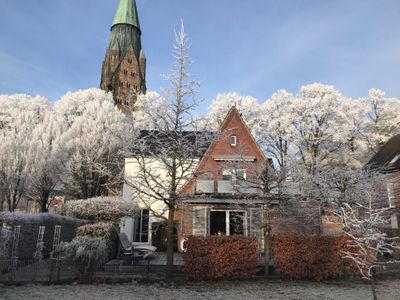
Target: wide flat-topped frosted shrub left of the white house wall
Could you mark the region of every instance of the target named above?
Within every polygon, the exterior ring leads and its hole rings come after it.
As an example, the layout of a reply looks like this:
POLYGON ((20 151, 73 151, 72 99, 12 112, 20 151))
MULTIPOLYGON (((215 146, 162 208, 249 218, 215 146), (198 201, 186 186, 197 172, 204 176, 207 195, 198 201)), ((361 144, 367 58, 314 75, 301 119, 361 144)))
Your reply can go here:
POLYGON ((71 200, 64 206, 64 214, 92 221, 118 221, 133 216, 137 207, 133 202, 119 197, 98 197, 86 200, 71 200))

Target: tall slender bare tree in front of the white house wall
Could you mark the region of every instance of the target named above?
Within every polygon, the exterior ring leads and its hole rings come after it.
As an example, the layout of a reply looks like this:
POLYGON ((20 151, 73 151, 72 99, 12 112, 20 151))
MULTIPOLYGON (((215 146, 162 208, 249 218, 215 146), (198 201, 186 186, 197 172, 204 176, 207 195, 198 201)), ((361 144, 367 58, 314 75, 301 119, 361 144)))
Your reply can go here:
POLYGON ((173 273, 175 206, 180 200, 180 188, 195 171, 198 163, 195 153, 201 148, 203 138, 197 135, 197 122, 192 116, 197 106, 195 92, 198 83, 190 80, 189 47, 182 24, 180 31, 175 33, 174 68, 170 75, 165 76, 170 87, 161 91, 163 100, 160 101, 167 105, 162 105, 162 109, 142 111, 151 131, 142 132, 133 141, 127 161, 134 169, 132 180, 127 179, 132 198, 167 223, 168 279, 173 273))

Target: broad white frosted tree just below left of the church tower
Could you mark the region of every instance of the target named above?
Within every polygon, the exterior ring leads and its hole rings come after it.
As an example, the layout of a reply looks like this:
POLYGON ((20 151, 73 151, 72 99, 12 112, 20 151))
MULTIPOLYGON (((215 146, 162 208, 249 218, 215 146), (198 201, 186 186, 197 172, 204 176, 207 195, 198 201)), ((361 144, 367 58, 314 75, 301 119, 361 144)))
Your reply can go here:
POLYGON ((61 137, 67 154, 67 192, 78 199, 116 193, 131 123, 114 106, 112 96, 98 89, 68 93, 55 112, 67 123, 61 137))

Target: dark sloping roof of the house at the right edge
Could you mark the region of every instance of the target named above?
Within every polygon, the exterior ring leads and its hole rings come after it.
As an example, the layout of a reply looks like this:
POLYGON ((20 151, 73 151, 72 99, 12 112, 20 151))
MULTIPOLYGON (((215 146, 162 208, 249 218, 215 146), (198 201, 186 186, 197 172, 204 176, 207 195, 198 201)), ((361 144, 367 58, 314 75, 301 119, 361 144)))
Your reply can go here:
POLYGON ((387 141, 367 163, 367 167, 387 173, 400 171, 400 134, 387 141))

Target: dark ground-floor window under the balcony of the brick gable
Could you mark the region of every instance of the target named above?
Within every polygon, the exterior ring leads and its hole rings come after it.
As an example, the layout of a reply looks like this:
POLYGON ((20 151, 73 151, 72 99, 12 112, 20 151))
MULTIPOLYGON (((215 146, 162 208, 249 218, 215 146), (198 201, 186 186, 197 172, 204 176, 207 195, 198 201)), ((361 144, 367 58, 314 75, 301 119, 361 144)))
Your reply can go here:
POLYGON ((210 211, 210 235, 245 235, 244 211, 210 211))

